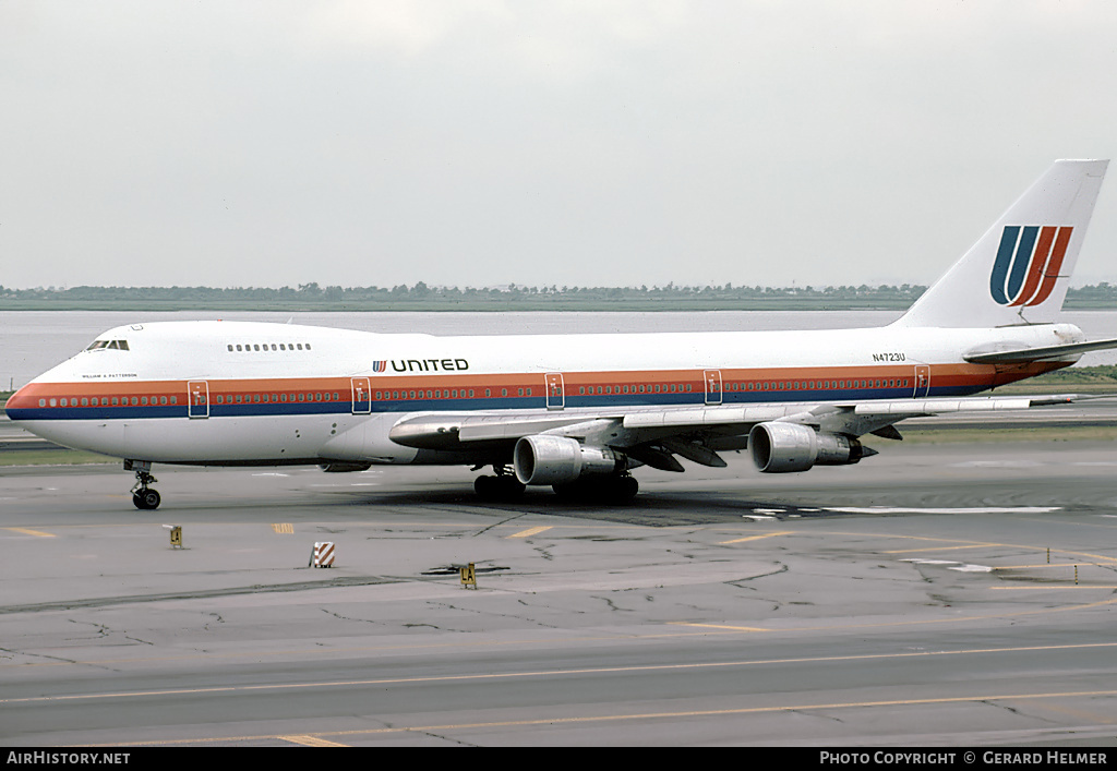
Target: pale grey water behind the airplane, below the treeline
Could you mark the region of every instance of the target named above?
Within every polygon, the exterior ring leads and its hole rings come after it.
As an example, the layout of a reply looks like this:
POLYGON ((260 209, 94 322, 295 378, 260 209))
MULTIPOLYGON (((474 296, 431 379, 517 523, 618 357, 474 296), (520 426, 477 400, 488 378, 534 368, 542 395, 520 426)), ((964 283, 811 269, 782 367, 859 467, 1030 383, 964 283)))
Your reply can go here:
MULTIPOLYGON (((882 326, 898 311, 710 311, 669 313, 257 313, 257 312, 0 312, 0 390, 19 388, 84 350, 105 330, 157 321, 226 318, 334 326, 365 332, 451 334, 562 334, 601 332, 727 332, 747 330, 833 330, 882 326)), ((1065 313, 1090 339, 1117 337, 1117 312, 1065 313)), ((1080 367, 1117 364, 1117 351, 1088 353, 1080 367)))

